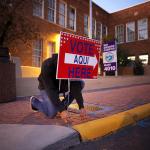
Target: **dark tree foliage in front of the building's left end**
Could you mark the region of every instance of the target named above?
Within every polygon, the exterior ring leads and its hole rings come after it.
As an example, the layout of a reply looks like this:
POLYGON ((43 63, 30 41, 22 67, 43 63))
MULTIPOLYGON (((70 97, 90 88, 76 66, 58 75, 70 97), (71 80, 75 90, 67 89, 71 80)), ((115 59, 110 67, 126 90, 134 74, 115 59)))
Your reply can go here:
POLYGON ((39 29, 27 14, 32 0, 0 1, 0 47, 13 49, 19 42, 30 45, 39 37, 39 29))

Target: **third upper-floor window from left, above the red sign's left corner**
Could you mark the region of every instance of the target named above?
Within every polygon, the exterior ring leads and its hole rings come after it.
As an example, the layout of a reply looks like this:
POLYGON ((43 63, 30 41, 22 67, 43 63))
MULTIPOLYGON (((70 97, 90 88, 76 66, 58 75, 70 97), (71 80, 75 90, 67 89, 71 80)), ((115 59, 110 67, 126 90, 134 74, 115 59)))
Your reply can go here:
POLYGON ((59 3, 59 24, 66 27, 66 4, 64 2, 59 3))

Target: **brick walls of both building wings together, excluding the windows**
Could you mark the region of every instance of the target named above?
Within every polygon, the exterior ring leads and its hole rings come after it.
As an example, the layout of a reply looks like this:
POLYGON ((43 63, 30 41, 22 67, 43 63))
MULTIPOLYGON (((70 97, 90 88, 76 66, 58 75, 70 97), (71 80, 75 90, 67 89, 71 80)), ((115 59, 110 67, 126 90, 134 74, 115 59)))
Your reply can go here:
MULTIPOLYGON (((44 19, 35 17, 32 15, 32 5, 30 4, 27 9, 27 15, 32 18, 35 25, 38 26, 41 37, 43 39, 43 59, 46 58, 46 46, 49 41, 53 40, 53 34, 59 33, 60 31, 70 32, 77 35, 84 36, 84 14, 89 14, 89 0, 63 0, 67 4, 67 10, 69 6, 76 8, 76 31, 73 31, 68 28, 64 28, 58 24, 58 9, 59 1, 57 0, 57 13, 56 13, 56 23, 51 23, 47 20, 47 2, 45 2, 45 12, 44 19), (28 10, 29 9, 29 10, 28 10)), ((120 44, 120 47, 127 51, 129 55, 140 55, 140 54, 149 54, 150 57, 150 2, 137 5, 125 10, 118 11, 116 13, 109 14, 95 3, 93 3, 93 17, 96 19, 96 22, 101 22, 103 25, 108 27, 108 35, 115 35, 115 25, 124 24, 127 22, 135 21, 136 22, 136 31, 137 31, 137 20, 142 18, 148 18, 148 32, 149 39, 138 41, 137 32, 135 42, 120 44)), ((68 21, 67 21, 68 22, 68 21)), ((125 34, 125 33, 124 33, 125 34)), ((125 37, 126 38, 126 37, 125 37)), ((31 66, 32 65, 32 46, 25 47, 23 44, 18 46, 17 51, 12 51, 13 56, 21 58, 21 65, 31 66)), ((31 44, 32 45, 32 44, 31 44)), ((150 59, 149 59, 150 64, 150 59)))

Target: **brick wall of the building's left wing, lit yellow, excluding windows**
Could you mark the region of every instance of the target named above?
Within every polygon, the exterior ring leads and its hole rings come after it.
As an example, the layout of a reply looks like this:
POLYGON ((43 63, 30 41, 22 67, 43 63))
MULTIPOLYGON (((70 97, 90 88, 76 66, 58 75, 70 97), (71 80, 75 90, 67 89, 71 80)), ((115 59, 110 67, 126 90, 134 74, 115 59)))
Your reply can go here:
MULTIPOLYGON (((59 2, 60 0, 57 0, 56 4, 56 23, 49 22, 47 19, 47 2, 45 1, 45 8, 44 8, 44 18, 36 17, 32 15, 32 4, 30 3, 30 7, 25 8, 26 12, 34 24, 38 27, 41 33, 41 38, 43 39, 43 60, 46 58, 46 49, 47 44, 49 41, 53 42, 53 35, 60 33, 60 31, 64 32, 70 32, 78 35, 84 35, 84 14, 89 13, 89 0, 64 0, 63 2, 66 2, 67 4, 67 10, 69 6, 73 6, 76 8, 76 31, 73 31, 69 29, 68 27, 62 27, 59 25, 58 20, 58 10, 59 10, 59 2), (84 6, 84 7, 83 7, 84 6)), ((68 21, 67 21, 68 22, 68 21)), ((25 66, 32 66, 32 43, 31 47, 26 47, 23 44, 18 45, 17 49, 15 51, 11 51, 12 56, 20 57, 21 58, 21 65, 25 66)))

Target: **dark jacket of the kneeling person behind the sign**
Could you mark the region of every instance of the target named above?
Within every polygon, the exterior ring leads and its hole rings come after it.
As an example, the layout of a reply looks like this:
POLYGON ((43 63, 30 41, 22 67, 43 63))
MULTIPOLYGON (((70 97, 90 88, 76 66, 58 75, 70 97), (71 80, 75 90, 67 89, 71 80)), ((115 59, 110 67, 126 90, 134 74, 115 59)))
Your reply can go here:
MULTIPOLYGON (((60 101, 59 93, 68 91, 68 80, 61 80, 61 87, 59 89, 60 80, 56 79, 57 57, 57 54, 53 54, 52 58, 48 58, 42 63, 41 73, 38 80, 39 89, 46 90, 52 103, 61 112, 66 109, 66 106, 60 101)), ((70 82, 70 94, 76 99, 79 109, 84 107, 81 90, 82 87, 80 81, 70 82)))

